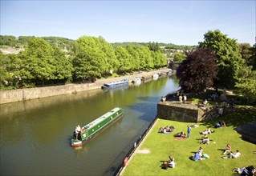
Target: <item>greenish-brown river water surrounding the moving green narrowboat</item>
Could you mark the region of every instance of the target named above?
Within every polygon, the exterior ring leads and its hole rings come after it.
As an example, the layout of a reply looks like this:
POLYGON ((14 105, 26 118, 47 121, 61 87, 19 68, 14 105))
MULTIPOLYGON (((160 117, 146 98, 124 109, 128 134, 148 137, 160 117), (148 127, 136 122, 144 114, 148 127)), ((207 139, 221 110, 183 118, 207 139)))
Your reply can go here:
POLYGON ((114 90, 89 90, 0 105, 1 175, 112 175, 156 117, 174 76, 114 90), (71 134, 119 106, 124 117, 79 148, 71 134))

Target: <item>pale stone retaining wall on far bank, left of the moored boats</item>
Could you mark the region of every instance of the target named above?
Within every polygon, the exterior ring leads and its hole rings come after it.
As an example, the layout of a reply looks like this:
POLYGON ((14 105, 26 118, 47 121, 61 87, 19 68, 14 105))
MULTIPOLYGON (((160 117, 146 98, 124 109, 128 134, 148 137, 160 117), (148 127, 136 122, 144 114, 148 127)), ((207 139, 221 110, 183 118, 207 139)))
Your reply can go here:
POLYGON ((68 84, 63 86, 47 86, 19 90, 4 90, 0 92, 0 104, 9 102, 20 102, 24 100, 45 98, 61 94, 75 94, 80 91, 100 88, 95 83, 68 84))

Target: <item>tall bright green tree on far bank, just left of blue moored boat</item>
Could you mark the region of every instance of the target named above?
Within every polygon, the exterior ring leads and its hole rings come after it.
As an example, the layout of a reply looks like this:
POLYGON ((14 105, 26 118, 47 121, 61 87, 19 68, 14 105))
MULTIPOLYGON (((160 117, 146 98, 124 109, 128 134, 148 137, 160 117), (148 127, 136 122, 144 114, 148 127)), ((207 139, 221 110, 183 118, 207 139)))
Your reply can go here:
POLYGON ((77 40, 78 54, 73 59, 74 78, 77 81, 95 81, 109 69, 99 38, 83 36, 77 40))

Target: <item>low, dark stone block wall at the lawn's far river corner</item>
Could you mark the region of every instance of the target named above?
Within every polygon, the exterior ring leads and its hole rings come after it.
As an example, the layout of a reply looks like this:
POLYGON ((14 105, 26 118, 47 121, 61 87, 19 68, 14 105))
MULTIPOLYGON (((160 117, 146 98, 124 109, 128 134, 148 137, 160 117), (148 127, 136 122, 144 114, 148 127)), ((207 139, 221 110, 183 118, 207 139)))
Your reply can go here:
POLYGON ((157 118, 178 122, 201 122, 205 118, 204 110, 195 105, 180 102, 158 102, 157 118))

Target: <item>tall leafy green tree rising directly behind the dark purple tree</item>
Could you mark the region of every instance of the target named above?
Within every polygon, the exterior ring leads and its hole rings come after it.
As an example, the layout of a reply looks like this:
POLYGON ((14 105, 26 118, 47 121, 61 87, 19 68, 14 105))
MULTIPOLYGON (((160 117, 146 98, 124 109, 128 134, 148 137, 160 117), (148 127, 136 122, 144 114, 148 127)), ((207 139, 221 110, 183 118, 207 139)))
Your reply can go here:
POLYGON ((199 42, 199 47, 209 47, 217 55, 218 80, 215 87, 233 88, 239 66, 245 66, 239 53, 238 42, 228 38, 226 34, 221 34, 220 30, 209 30, 204 38, 204 42, 199 42))

